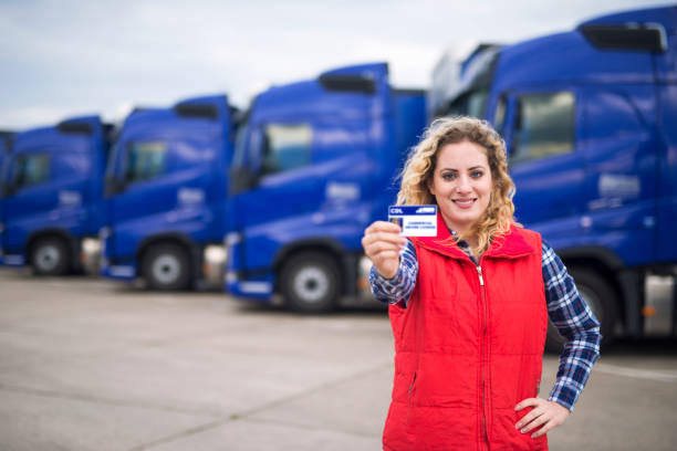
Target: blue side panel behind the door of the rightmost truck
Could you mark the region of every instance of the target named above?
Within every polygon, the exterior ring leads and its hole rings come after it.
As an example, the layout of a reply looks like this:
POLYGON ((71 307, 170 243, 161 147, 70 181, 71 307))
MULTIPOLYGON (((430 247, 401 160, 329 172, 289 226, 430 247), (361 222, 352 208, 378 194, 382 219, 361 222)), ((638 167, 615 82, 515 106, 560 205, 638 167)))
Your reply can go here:
POLYGON ((648 264, 656 252, 658 149, 655 86, 585 86, 587 231, 595 244, 628 265, 648 264))

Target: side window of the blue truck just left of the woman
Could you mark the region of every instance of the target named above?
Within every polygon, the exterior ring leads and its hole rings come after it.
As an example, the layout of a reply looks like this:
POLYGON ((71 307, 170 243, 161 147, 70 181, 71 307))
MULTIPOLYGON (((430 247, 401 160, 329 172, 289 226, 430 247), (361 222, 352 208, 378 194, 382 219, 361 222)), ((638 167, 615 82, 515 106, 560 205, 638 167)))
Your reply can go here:
POLYGON ((306 166, 310 164, 311 144, 309 125, 267 125, 261 175, 306 166))

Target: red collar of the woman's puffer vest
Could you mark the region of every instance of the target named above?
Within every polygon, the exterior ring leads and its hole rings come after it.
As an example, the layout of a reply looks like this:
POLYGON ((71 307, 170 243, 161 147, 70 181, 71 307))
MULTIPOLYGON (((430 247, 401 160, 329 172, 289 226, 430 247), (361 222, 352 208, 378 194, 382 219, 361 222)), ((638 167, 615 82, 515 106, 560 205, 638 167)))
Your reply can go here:
MULTIPOLYGON (((430 251, 441 253, 458 260, 470 258, 458 247, 456 240, 449 232, 445 220, 437 210, 437 237, 413 237, 412 241, 430 251)), ((510 226, 510 230, 504 235, 498 237, 489 245, 482 258, 488 259, 518 259, 534 252, 534 248, 522 235, 520 228, 510 226)))

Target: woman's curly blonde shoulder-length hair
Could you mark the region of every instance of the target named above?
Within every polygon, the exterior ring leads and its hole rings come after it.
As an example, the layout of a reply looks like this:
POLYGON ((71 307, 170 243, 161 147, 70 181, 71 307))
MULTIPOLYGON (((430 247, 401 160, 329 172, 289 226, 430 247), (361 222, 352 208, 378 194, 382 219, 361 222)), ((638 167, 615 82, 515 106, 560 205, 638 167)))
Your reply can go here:
POLYGON ((458 235, 460 240, 477 238, 472 252, 481 255, 491 241, 507 233, 512 224, 521 227, 513 218, 514 183, 508 175, 506 141, 488 122, 467 116, 434 120, 420 143, 412 149, 402 170, 397 204, 437 203, 428 183, 433 182, 438 151, 447 144, 462 141, 475 143, 486 150, 491 171, 492 188, 487 209, 469 231, 458 235))

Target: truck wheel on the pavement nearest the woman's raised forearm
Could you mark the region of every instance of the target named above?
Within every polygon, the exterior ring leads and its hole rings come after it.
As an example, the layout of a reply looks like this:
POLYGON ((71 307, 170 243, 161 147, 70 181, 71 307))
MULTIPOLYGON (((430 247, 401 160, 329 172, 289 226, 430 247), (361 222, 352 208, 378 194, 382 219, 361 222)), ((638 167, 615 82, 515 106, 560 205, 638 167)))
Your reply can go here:
POLYGON ((319 252, 292 256, 282 268, 280 287, 287 306, 301 313, 335 308, 340 272, 334 260, 319 252))

